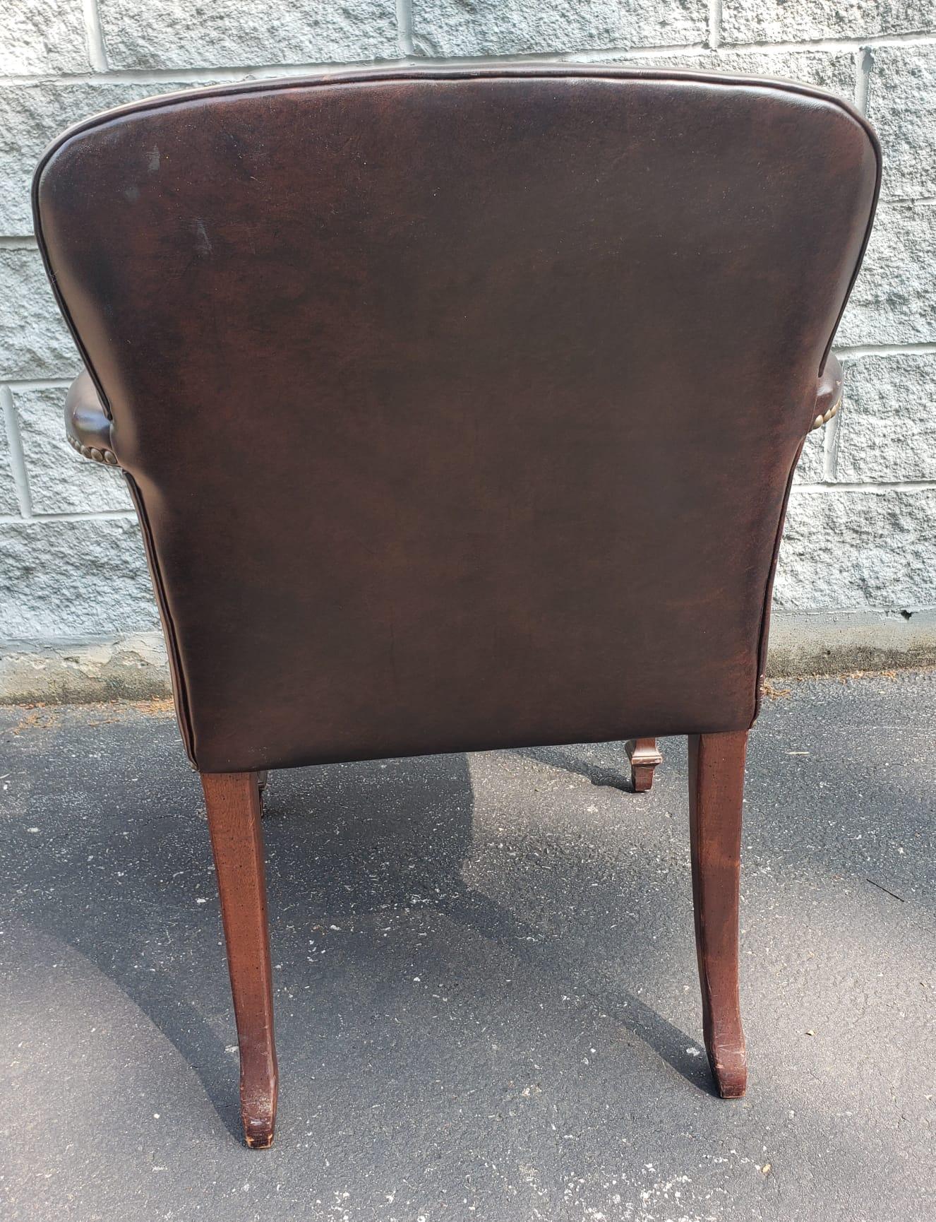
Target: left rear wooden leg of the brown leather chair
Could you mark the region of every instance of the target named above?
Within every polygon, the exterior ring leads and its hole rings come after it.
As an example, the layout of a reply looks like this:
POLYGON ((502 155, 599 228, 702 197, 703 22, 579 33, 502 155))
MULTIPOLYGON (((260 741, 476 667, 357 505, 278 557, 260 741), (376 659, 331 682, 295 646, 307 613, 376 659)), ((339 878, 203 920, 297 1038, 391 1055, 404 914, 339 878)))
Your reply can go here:
POLYGON ((248 1146, 264 1150, 272 1144, 277 1073, 260 789, 254 772, 203 772, 202 787, 221 896, 227 969, 241 1047, 244 1138, 248 1146))

